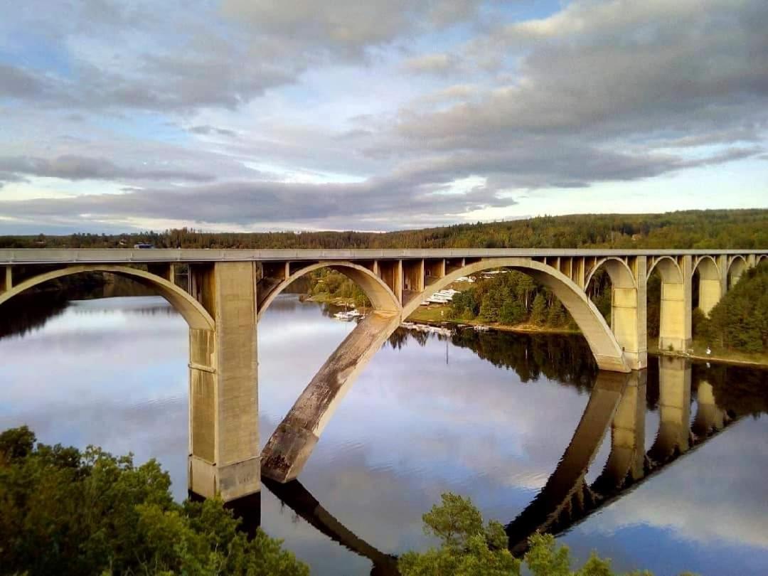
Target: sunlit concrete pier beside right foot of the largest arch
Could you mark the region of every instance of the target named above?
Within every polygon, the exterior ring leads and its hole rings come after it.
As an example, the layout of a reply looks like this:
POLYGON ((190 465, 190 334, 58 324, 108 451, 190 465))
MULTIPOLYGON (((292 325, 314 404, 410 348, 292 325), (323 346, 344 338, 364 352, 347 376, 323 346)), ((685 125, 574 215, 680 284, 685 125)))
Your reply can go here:
POLYGON ((637 257, 633 268, 636 286, 614 283, 611 294, 611 330, 630 368, 641 370, 648 366, 646 257, 637 257))

